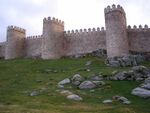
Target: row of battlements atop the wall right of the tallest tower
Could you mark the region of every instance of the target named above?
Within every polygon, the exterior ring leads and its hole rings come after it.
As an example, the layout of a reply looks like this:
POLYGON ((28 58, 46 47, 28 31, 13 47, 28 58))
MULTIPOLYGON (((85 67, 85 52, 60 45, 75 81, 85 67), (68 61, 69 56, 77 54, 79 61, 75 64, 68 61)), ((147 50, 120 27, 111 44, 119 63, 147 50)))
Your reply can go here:
POLYGON ((144 25, 144 27, 142 25, 139 25, 138 27, 136 25, 134 25, 133 27, 128 25, 127 30, 128 31, 150 31, 150 28, 146 24, 144 25))

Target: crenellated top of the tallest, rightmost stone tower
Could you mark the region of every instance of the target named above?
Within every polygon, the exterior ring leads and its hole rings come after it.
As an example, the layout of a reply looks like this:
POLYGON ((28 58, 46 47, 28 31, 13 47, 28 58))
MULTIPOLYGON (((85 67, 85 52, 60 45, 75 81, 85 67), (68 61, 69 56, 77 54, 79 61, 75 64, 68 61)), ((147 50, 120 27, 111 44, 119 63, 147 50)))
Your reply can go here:
POLYGON ((113 11, 119 11, 121 13, 125 14, 124 9, 120 5, 113 4, 112 6, 107 6, 107 8, 104 9, 105 14, 113 12, 113 11))

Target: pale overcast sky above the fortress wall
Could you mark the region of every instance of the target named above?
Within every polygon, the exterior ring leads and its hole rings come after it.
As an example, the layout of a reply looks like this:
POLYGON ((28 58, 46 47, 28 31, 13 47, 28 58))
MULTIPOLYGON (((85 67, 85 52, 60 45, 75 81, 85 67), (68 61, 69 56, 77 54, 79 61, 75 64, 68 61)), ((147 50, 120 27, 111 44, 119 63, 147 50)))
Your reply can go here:
POLYGON ((123 6, 128 25, 150 26, 150 0, 0 0, 0 42, 8 25, 27 30, 27 36, 42 34, 44 17, 65 22, 65 30, 105 26, 104 8, 123 6))

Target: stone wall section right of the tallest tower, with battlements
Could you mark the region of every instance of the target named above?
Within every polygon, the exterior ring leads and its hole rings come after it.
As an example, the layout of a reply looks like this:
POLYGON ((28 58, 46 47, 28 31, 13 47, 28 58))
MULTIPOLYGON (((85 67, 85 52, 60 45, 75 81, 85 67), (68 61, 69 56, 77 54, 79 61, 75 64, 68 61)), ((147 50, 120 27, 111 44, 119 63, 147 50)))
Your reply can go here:
POLYGON ((129 49, 135 52, 150 52, 150 28, 128 29, 129 49))

